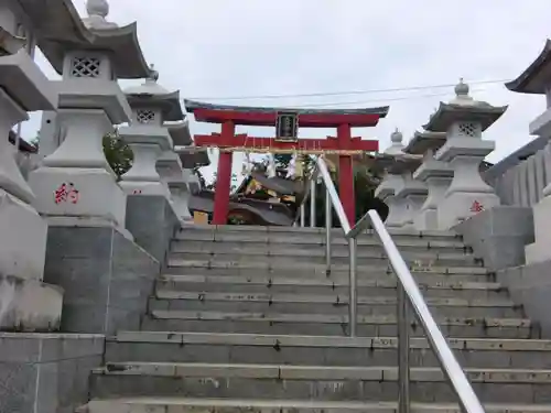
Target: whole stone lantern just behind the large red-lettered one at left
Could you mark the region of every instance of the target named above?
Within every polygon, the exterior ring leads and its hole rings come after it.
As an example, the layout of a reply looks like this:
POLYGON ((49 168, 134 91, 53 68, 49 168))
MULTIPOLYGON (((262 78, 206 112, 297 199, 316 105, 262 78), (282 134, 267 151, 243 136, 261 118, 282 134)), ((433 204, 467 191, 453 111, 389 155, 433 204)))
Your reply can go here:
POLYGON ((156 162, 163 153, 173 153, 174 144, 188 144, 191 139, 188 130, 171 131, 165 126, 183 120, 184 113, 180 93, 169 93, 158 79, 159 74, 152 72, 143 85, 125 90, 132 108, 132 122, 120 128, 119 134, 132 149, 134 162, 122 175, 121 186, 128 195, 162 195, 170 200, 169 187, 159 175, 156 162))

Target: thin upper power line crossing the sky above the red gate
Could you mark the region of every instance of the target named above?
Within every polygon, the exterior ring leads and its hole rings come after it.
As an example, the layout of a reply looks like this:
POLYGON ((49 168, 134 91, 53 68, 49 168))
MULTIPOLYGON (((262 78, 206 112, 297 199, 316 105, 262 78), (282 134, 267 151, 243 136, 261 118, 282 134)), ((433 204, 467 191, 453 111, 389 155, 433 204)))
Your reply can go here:
MULTIPOLYGON (((510 79, 495 79, 495 80, 474 80, 468 81, 471 85, 483 84, 498 84, 506 83, 510 79)), ((285 98, 302 98, 302 97, 323 97, 323 96, 344 96, 344 95, 367 95, 367 94, 382 94, 392 91, 411 91, 411 90, 426 90, 436 89, 442 87, 454 87, 457 83, 441 84, 441 85, 426 85, 426 86, 409 86, 389 89, 367 89, 367 90, 348 90, 348 91, 327 91, 327 93, 312 93, 312 94, 293 94, 293 95, 250 95, 250 96, 228 96, 228 97, 193 97, 191 100, 246 100, 246 99, 285 99, 285 98)))

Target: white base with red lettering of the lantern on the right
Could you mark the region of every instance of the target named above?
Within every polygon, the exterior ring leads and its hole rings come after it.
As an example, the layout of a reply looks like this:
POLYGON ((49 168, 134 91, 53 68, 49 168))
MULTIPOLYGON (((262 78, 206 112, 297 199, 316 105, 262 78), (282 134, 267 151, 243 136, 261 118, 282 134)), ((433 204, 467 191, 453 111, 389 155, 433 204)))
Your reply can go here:
POLYGON ((447 194, 439 205, 439 219, 442 229, 451 229, 465 219, 479 214, 480 210, 477 210, 475 204, 486 210, 499 206, 500 200, 497 195, 490 193, 454 192, 447 194))

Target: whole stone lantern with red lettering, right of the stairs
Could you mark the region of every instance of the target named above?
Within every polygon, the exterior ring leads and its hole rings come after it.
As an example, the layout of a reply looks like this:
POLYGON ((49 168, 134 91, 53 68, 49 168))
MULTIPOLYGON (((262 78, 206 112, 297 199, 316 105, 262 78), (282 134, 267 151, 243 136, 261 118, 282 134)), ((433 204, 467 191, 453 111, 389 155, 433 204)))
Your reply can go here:
POLYGON ((436 161, 453 169, 453 181, 439 206, 442 229, 450 229, 468 217, 499 205, 494 188, 487 185, 479 172, 480 162, 495 149, 495 142, 484 141, 482 133, 488 129, 507 107, 495 107, 474 100, 463 80, 455 87, 456 97, 449 104, 441 102, 424 127, 430 132, 445 132, 445 144, 434 154, 436 161))

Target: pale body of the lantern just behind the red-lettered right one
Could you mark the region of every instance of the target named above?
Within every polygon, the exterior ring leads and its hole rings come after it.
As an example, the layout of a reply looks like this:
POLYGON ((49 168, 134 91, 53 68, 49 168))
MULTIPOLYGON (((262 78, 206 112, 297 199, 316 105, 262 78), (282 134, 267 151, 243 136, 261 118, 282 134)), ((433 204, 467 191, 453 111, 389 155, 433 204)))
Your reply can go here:
POLYGON ((418 230, 441 229, 439 221, 439 205, 444 198, 453 178, 450 165, 434 159, 434 152, 444 145, 446 134, 443 132, 415 132, 404 152, 423 156, 421 166, 413 172, 415 181, 425 184, 428 196, 414 219, 418 230))

